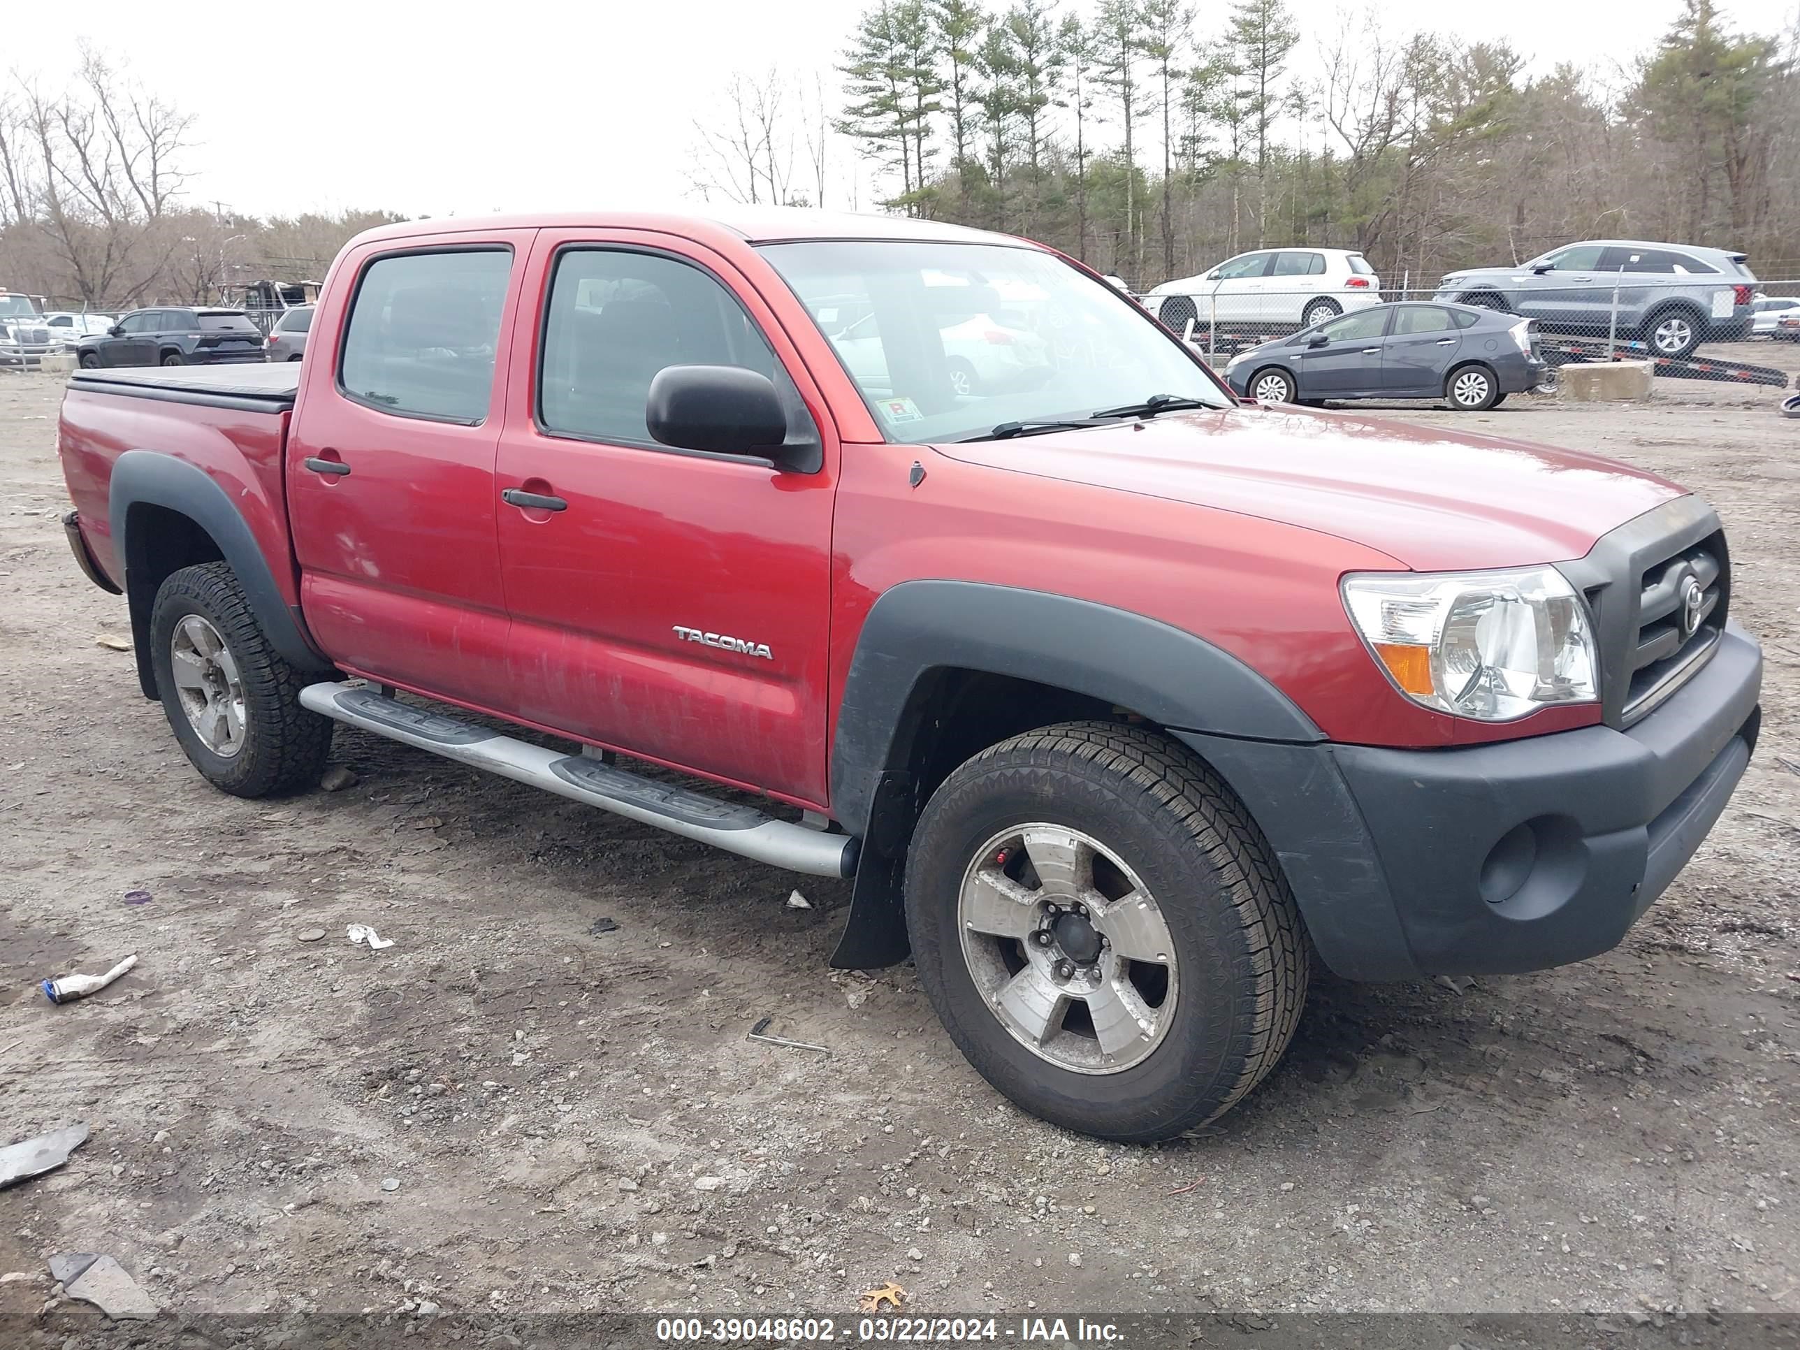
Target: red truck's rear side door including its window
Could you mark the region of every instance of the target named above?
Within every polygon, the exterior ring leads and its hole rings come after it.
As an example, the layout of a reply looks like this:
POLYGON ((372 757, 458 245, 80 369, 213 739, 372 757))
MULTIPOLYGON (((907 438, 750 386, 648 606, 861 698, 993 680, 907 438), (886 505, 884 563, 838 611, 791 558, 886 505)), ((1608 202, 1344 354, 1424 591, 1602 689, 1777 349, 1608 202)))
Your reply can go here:
POLYGON ((338 266, 288 432, 301 605, 326 653, 508 707, 495 538, 509 315, 533 230, 371 243, 338 266))

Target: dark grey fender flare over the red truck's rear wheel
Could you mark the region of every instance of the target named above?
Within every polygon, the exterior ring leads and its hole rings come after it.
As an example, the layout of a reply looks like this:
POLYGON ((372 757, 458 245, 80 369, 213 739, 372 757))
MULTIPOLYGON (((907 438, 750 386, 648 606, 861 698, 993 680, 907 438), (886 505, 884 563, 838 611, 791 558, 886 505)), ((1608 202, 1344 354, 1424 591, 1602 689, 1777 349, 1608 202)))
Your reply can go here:
POLYGON ((198 464, 157 450, 126 450, 113 463, 106 491, 106 511, 113 531, 119 565, 124 569, 124 594, 131 607, 131 639, 137 650, 137 679, 146 698, 157 697, 157 679, 149 661, 149 610, 155 589, 146 580, 149 542, 131 533, 133 506, 160 506, 193 520, 218 545, 238 576, 256 621, 283 659, 295 670, 328 675, 333 666, 311 644, 299 616, 275 585, 275 574, 256 544, 250 526, 232 506, 225 490, 198 464))

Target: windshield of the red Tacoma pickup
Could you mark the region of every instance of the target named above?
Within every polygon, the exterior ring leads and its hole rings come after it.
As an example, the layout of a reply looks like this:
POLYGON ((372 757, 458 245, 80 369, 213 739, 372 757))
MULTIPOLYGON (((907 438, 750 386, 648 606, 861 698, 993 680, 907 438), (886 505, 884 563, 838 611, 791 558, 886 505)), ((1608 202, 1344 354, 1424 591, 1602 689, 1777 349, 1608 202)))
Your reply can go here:
POLYGON ((1082 419, 1154 394, 1233 403, 1130 299, 1053 254, 887 239, 761 254, 902 445, 1082 419))

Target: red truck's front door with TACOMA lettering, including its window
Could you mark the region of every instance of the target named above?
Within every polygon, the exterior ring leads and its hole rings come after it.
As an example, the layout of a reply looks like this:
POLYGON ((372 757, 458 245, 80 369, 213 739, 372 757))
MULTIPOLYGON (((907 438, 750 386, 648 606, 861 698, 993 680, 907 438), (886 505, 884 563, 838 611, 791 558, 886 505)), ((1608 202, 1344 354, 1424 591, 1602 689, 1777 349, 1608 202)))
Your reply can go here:
POLYGON ((668 234, 542 230, 526 290, 544 311, 515 320, 495 475, 518 715, 823 803, 837 441, 797 353, 729 261, 668 234), (652 378, 695 364, 769 374, 823 466, 653 441, 652 378))

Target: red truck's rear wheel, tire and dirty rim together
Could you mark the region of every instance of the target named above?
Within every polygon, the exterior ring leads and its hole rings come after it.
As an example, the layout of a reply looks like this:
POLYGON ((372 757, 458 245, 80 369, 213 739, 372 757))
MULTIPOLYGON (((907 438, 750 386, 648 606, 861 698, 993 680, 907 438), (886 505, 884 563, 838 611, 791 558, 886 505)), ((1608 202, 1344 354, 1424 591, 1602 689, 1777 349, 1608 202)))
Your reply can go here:
POLYGON ((270 646, 229 563, 173 572, 149 616, 157 693, 212 787, 266 797, 319 781, 329 718, 301 707, 301 675, 270 646))

